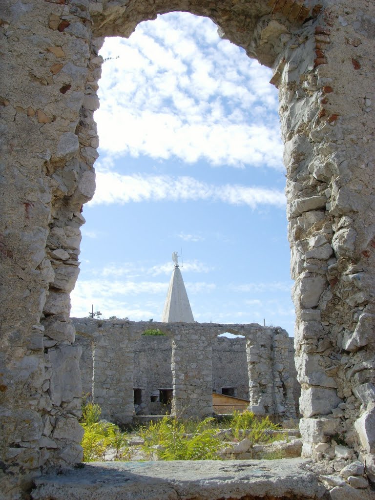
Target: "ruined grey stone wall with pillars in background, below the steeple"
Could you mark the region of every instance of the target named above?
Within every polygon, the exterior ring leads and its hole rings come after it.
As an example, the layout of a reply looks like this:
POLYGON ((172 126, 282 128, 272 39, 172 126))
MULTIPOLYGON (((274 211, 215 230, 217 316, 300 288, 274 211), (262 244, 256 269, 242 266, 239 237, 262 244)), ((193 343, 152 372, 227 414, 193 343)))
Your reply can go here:
POLYGON ((211 415, 212 386, 223 379, 229 380, 231 386, 236 380, 243 384, 247 379, 246 398, 250 385, 250 407, 257 413, 278 414, 283 419, 295 417, 293 375, 289 373, 290 339, 281 328, 153 322, 152 326, 165 331, 166 336, 142 336, 150 323, 88 318, 72 321, 77 343, 85 347, 87 354, 87 339, 92 342, 93 371, 89 356, 81 360, 80 366, 85 386, 89 384, 87 377, 93 376, 93 400, 100 404, 105 418, 119 423, 131 420, 133 388, 142 390, 142 412, 157 412, 159 408, 150 403, 150 396, 162 387, 173 387, 173 414, 211 415), (243 334, 245 338, 217 337, 225 331, 243 334), (252 358, 248 369, 249 344, 260 346, 261 352, 257 349, 257 357, 252 358), (231 355, 226 359, 219 357, 223 353, 231 355), (221 376, 216 382, 212 370, 215 358, 220 372, 216 376, 221 376), (254 377, 250 383, 247 372, 254 377), (251 390, 255 386, 258 390, 251 390))

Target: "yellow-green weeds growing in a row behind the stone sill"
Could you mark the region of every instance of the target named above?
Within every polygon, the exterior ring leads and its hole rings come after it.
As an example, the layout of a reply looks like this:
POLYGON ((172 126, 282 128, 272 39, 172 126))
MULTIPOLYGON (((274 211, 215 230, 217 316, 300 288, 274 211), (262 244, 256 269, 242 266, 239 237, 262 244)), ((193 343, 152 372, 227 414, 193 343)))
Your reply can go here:
MULTIPOLYGON (((89 402, 88 397, 89 394, 82 397, 83 461, 104 460, 110 450, 114 460, 130 460, 130 435, 114 423, 100 420, 100 406, 89 402)), ((257 418, 251 411, 234 412, 225 423, 230 429, 222 434, 214 418, 199 422, 165 415, 138 428, 135 433, 143 439, 143 456, 152 459, 156 455, 160 460, 218 460, 220 450, 227 445, 225 441, 239 441, 246 437, 253 444, 265 444, 287 438, 282 430, 269 432, 280 429, 280 426, 268 417, 257 418)), ((283 453, 282 450, 270 451, 264 454, 264 458, 282 458, 283 453)))

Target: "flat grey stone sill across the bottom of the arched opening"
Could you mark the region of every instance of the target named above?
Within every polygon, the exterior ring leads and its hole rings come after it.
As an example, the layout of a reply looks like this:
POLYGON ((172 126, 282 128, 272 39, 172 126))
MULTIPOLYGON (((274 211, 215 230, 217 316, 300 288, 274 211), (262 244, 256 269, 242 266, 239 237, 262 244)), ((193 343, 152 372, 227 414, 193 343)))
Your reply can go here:
POLYGON ((91 462, 35 480, 33 500, 318 500, 306 460, 91 462))

